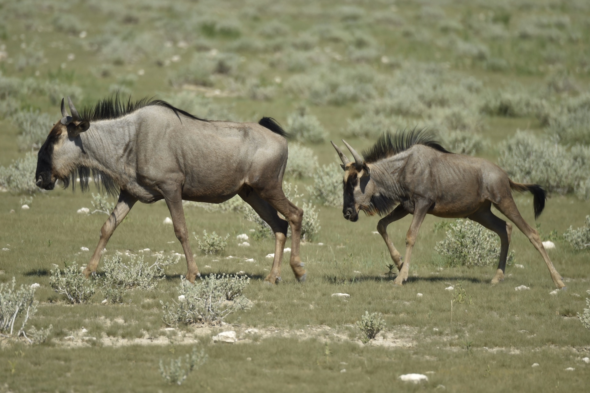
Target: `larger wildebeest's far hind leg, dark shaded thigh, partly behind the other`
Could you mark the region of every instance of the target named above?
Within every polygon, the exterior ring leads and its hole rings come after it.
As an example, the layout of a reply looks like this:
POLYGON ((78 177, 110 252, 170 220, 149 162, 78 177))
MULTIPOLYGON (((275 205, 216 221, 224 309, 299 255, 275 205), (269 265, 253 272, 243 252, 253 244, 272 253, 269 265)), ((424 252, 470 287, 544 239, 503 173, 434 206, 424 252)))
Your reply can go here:
POLYGON ((277 283, 278 281, 281 281, 281 261, 283 260, 283 251, 287 240, 287 225, 289 225, 289 223, 278 217, 277 210, 267 201, 260 198, 256 192, 251 190, 250 192, 246 192, 245 190, 242 190, 238 195, 240 195, 241 198, 244 199, 244 201, 247 202, 268 225, 270 225, 270 228, 274 233, 275 243, 273 266, 265 280, 271 284, 277 283))

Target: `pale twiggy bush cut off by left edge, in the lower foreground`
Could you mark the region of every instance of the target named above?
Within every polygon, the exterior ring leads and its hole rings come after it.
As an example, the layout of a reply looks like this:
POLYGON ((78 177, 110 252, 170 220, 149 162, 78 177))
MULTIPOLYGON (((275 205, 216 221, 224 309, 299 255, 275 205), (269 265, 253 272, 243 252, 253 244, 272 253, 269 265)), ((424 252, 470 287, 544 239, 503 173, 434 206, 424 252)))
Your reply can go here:
POLYGON ((21 285, 15 290, 16 279, 12 283, 0 284, 0 336, 25 336, 28 319, 37 312, 35 288, 21 285), (14 325, 17 325, 15 330, 14 325), (20 327, 18 326, 20 325, 20 327))

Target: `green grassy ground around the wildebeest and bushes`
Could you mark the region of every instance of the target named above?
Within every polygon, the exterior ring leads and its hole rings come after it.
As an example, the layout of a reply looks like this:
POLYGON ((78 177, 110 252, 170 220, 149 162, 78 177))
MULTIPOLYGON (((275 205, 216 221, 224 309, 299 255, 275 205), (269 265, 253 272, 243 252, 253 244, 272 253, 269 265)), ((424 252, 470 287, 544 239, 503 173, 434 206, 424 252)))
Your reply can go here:
MULTIPOLYGON (((2 77, 61 86, 58 89, 63 96, 77 88, 83 94, 77 106, 107 96, 113 85, 126 88, 136 98, 155 94, 174 97, 195 91, 195 86, 172 86, 169 77, 189 67, 193 55, 210 54, 215 49, 235 54, 238 66, 229 74, 214 74, 212 86, 197 86, 198 91, 212 94, 206 98, 212 106, 229 107, 244 120, 273 116, 286 125, 289 114, 304 103, 329 137, 339 140, 349 120, 358 117, 366 103, 310 103, 284 88, 290 77, 311 75, 319 84, 322 80, 316 71, 320 68, 332 67, 332 73, 370 70, 374 75, 369 76, 375 78, 372 86, 384 94, 383 86, 399 70, 411 69, 412 64, 435 64, 457 73, 452 77, 458 82, 472 77, 481 83, 480 93, 466 96, 468 100, 479 100, 496 89, 520 89, 535 97, 559 100, 562 96, 548 93, 555 75, 566 75, 575 83, 576 90, 562 94, 576 96, 588 91, 588 15, 584 2, 575 1, 514 1, 494 6, 404 1, 346 5, 251 1, 243 6, 225 2, 50 1, 38 6, 35 2, 0 0, 0 48, 4 45, 0 51, 12 59, 0 55, 0 71, 2 77), (86 32, 84 38, 82 31, 86 32), (530 37, 523 38, 526 34, 530 37), (308 36, 313 38, 309 52, 331 60, 297 66, 299 52, 293 55, 295 60, 285 60, 291 58, 293 48, 306 47, 301 42, 308 36), (150 44, 145 44, 146 40, 150 44), (189 46, 180 45, 182 41, 189 46), (483 54, 478 55, 478 50, 483 54), (42 51, 36 63, 35 51, 42 51), (68 60, 70 53, 74 54, 72 60, 68 60), (117 57, 116 53, 122 55, 117 57), (335 53, 343 60, 335 60, 335 53), (21 55, 30 63, 18 68, 21 55), (173 55, 179 55, 180 60, 172 61, 173 55), (382 61, 382 56, 388 61, 382 61), (106 71, 100 73, 99 68, 106 71), (281 82, 277 83, 276 77, 281 82), (268 100, 254 99, 248 93, 250 78, 276 89, 275 95, 268 100), (216 95, 215 89, 222 93, 216 95)), ((196 73, 196 68, 191 72, 196 73)), ((449 75, 441 71, 441 78, 451 78, 449 75)), ((450 89, 448 86, 444 88, 450 89)), ((2 89, 7 88, 0 86, 0 103, 6 99, 2 89)), ((58 101, 40 90, 27 91, 11 96, 19 110, 38 109, 58 120, 58 101)), ((471 107, 473 103, 463 101, 457 107, 471 111, 470 116, 480 116, 471 107)), ((407 119, 422 122, 429 116, 430 112, 424 118, 407 119)), ((497 161, 499 143, 517 129, 537 135, 545 132, 533 113, 486 115, 482 119, 484 126, 473 132, 489 144, 478 156, 493 161, 497 161)), ((24 155, 17 142, 19 132, 8 115, 0 119, 0 165, 9 165, 24 155)), ((347 140, 358 149, 373 143, 371 138, 347 140)), ((327 141, 306 146, 313 149, 320 165, 335 162, 327 141)), ((313 179, 296 182, 303 189, 313 179)), ((28 210, 20 208, 23 197, 0 193, 0 245, 8 248, 0 251, 0 281, 16 277, 17 284, 39 283, 35 298, 40 306, 30 324, 52 325, 53 330, 48 342, 41 345, 0 342, 0 392, 164 391, 172 387, 160 377, 159 361, 169 362, 193 347, 204 348, 208 361, 184 384, 173 387, 178 391, 378 392, 442 387, 458 392, 585 391, 589 384, 590 365, 582 358, 590 355, 590 332, 576 317, 589 296, 589 256, 573 250, 562 238, 549 255, 564 277, 567 291, 550 294, 554 288, 542 258, 516 228, 511 247, 516 251, 514 263, 522 268, 507 267, 506 280, 491 286, 494 267, 443 267, 434 251, 435 243, 444 238, 444 231, 434 231, 435 222, 441 220, 427 217, 412 255, 410 278, 400 288, 394 287, 386 274, 391 260, 381 237, 373 233, 377 219, 362 216, 352 223, 343 220, 340 209, 321 206, 318 238, 301 247, 308 272, 306 283, 296 283, 286 263, 283 281, 268 286, 263 279, 270 268, 266 255, 273 250, 273 240, 250 240, 251 247, 238 247, 235 236, 250 233, 253 223, 233 212, 187 207, 190 232, 230 234, 221 256, 197 253, 202 274, 247 274, 251 282, 244 295, 253 301, 253 307, 228 317, 228 325, 165 330, 160 301, 178 296, 180 276, 186 271, 183 258, 167 268, 166 280, 156 289, 132 290, 123 297, 123 304, 101 304, 104 296, 99 292, 89 304, 67 305, 51 289, 49 271, 53 264, 62 268, 66 262, 86 264, 107 216, 77 214, 78 208, 91 207, 91 196, 79 190, 74 194, 61 189, 44 192, 34 197, 28 210), (81 247, 90 251, 81 251, 81 247), (248 258, 255 261, 248 262, 248 258), (455 292, 445 290, 457 283, 466 290, 467 303, 452 302, 455 292), (530 290, 515 291, 520 285, 530 290), (333 293, 350 297, 341 299, 333 293), (385 331, 369 345, 360 343, 355 326, 365 311, 382 313, 386 322, 385 331), (258 332, 246 333, 249 328, 258 332), (81 333, 82 329, 86 330, 81 333), (213 343, 211 336, 222 330, 236 330, 238 343, 213 343), (533 363, 539 366, 532 367, 533 363), (421 385, 401 385, 398 376, 408 373, 425 374, 429 380, 421 385)), ((515 195, 515 199, 523 217, 532 224, 532 196, 515 195)), ((588 202, 555 194, 538 222, 545 234, 552 230, 562 234, 570 225, 580 227, 589 213, 588 202)), ((163 224, 168 216, 163 202, 137 204, 114 232, 105 257, 116 251, 138 253, 144 248, 166 254, 181 252, 172 227, 163 224)), ((410 221, 411 217, 406 217, 389 227, 400 250, 410 221)), ((198 251, 195 241, 192 246, 198 251)), ((146 256, 146 260, 154 259, 146 256)))

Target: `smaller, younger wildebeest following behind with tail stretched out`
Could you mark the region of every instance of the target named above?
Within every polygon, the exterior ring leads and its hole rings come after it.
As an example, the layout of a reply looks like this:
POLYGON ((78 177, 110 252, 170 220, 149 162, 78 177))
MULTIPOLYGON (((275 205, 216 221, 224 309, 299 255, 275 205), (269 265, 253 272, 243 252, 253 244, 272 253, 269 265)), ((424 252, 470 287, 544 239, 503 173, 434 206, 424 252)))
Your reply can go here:
POLYGON ((503 280, 512 225, 491 212, 493 204, 539 251, 555 286, 565 287, 543 248, 539 234, 523 220, 512 198, 511 190, 530 191, 537 218, 545 207, 546 198, 539 185, 515 183, 499 166, 487 160, 450 153, 422 130, 397 133, 395 136, 384 133, 363 154, 364 158, 344 140, 342 142, 355 159, 350 162, 332 142, 345 171, 344 218, 358 220, 359 210, 369 215, 385 215, 379 220, 377 230, 399 269, 395 284, 401 285, 408 280, 412 247, 427 214, 470 218, 496 232, 501 241, 500 261, 491 282, 496 284, 503 280), (406 254, 402 262, 399 252, 389 240, 387 226, 408 214, 414 217, 406 235, 406 254))

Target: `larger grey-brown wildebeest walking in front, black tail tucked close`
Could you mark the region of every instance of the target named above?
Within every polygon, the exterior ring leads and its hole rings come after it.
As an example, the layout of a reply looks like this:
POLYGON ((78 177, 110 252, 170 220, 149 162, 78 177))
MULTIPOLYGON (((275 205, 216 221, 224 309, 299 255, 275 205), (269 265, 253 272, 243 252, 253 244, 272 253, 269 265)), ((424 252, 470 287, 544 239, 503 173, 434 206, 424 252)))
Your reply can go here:
POLYGON ((276 237, 273 266, 266 280, 280 281, 281 259, 291 225, 291 268, 305 279, 299 258, 303 210, 284 195, 287 163, 285 132, 270 117, 256 123, 214 122, 199 119, 165 101, 143 99, 126 104, 99 101, 80 115, 70 97, 71 116, 61 100, 63 118, 39 150, 37 185, 53 189, 60 179, 73 186, 80 178, 83 191, 90 173, 119 201, 100 230, 99 244, 84 270, 96 271, 100 255, 113 231, 137 201, 164 199, 186 256, 186 278, 200 276, 188 241, 182 200, 220 203, 234 195, 270 225, 276 237), (280 218, 280 212, 287 221, 280 218))

